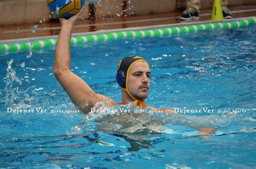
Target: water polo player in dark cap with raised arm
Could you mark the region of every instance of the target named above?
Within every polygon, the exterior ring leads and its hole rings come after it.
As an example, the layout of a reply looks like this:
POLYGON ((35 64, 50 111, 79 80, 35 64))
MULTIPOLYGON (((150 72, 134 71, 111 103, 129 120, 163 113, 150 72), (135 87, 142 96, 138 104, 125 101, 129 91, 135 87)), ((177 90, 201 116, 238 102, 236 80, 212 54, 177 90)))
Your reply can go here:
POLYGON ((146 104, 150 90, 150 66, 142 57, 125 57, 118 65, 117 82, 122 89, 122 102, 116 103, 107 96, 94 92, 83 79, 70 70, 70 38, 73 25, 84 8, 70 19, 59 18, 62 23, 55 51, 53 73, 68 93, 72 102, 84 113, 90 112, 97 102, 109 99, 107 105, 125 105, 133 102, 140 109, 175 113, 169 109, 154 109, 146 104))

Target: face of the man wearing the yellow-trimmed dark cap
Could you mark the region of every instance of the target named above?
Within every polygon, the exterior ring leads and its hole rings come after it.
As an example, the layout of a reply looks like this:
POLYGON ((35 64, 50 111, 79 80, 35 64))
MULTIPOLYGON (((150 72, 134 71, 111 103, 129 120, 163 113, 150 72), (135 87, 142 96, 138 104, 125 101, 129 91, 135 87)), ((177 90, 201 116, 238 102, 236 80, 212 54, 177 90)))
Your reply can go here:
POLYGON ((132 65, 128 75, 128 90, 135 98, 146 99, 150 89, 150 67, 146 62, 132 65))

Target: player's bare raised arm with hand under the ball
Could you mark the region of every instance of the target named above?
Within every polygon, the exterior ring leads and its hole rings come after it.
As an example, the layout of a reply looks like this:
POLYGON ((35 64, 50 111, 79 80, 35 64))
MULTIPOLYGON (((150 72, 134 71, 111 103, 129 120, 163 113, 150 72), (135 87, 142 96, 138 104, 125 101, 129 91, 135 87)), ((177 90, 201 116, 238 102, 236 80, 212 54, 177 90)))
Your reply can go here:
POLYGON ((70 38, 72 28, 83 11, 84 7, 75 16, 69 19, 59 18, 62 29, 60 30, 56 45, 53 73, 63 89, 68 93, 72 102, 78 106, 81 111, 87 113, 90 112, 90 108, 93 107, 96 102, 107 97, 95 93, 83 79, 70 70, 70 38))

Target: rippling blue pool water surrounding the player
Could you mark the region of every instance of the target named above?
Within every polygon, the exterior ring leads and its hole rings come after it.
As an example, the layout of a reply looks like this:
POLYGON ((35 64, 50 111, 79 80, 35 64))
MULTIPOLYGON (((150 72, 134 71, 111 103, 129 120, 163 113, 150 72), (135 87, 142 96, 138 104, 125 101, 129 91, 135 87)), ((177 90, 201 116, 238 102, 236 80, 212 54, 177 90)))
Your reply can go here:
MULTIPOLYGON (((148 111, 85 116, 52 74, 55 49, 32 56, 2 53, 0 167, 253 168, 255 44, 256 26, 250 26, 71 49, 72 71, 116 102, 119 60, 145 57, 152 71, 147 104, 179 109, 180 116, 148 111), (215 132, 204 138, 189 126, 215 132)), ((103 108, 114 109, 104 103, 103 108)))

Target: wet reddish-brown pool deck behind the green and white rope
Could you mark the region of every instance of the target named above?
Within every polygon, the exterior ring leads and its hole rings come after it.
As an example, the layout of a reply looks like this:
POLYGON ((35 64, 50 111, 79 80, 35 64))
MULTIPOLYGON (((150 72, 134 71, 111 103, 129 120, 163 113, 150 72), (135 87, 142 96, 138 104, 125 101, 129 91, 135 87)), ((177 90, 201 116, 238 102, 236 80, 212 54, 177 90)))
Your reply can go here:
MULTIPOLYGON (((256 16, 256 5, 233 6, 229 9, 233 12, 233 18, 256 16)), ((210 20, 211 12, 211 10, 202 10, 199 15, 199 21, 210 20)), ((182 12, 95 19, 93 21, 80 19, 78 24, 74 26, 73 33, 183 23, 183 21, 180 21, 178 18, 180 15, 182 15, 182 12)), ((0 40, 52 36, 58 35, 59 31, 60 23, 58 21, 51 23, 35 22, 34 24, 0 26, 0 40), (35 33, 32 33, 32 26, 34 25, 37 25, 38 28, 35 29, 35 33)))

